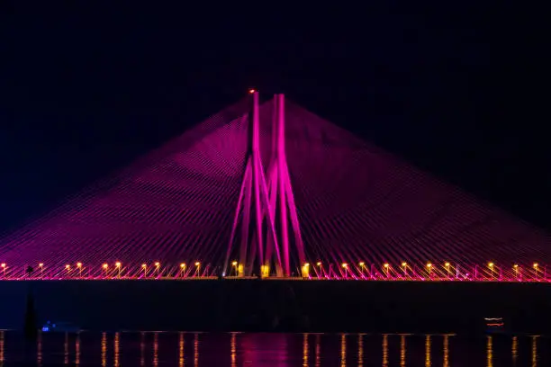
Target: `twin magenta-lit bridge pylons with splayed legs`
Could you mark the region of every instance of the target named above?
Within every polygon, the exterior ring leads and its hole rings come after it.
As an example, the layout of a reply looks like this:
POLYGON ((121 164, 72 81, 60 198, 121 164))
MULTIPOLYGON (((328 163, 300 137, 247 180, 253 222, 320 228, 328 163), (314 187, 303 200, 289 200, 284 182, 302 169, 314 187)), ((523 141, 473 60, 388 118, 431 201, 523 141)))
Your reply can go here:
POLYGON ((239 275, 251 275, 256 273, 256 269, 262 277, 266 277, 274 265, 276 276, 290 276, 289 227, 294 232, 294 246, 301 264, 304 261, 304 249, 285 158, 285 96, 274 96, 273 139, 267 181, 260 157, 257 91, 251 90, 249 98, 245 169, 223 271, 225 274, 234 270, 239 275), (232 269, 229 267, 230 255, 234 246, 238 246, 239 227, 239 263, 231 264, 235 268, 232 269))

